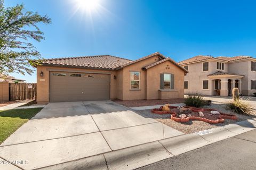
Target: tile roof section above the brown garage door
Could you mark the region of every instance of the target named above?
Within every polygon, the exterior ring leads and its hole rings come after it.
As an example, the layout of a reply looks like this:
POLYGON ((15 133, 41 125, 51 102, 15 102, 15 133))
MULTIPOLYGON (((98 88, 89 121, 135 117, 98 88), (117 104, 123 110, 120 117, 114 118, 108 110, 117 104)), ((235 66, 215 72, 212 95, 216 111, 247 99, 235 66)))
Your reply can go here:
POLYGON ((84 66, 114 70, 116 69, 116 67, 129 62, 131 62, 131 60, 127 60, 125 58, 115 57, 111 55, 99 55, 46 59, 42 62, 42 64, 84 66))

